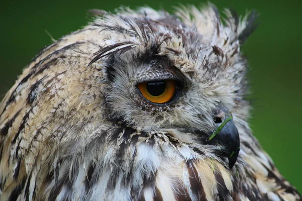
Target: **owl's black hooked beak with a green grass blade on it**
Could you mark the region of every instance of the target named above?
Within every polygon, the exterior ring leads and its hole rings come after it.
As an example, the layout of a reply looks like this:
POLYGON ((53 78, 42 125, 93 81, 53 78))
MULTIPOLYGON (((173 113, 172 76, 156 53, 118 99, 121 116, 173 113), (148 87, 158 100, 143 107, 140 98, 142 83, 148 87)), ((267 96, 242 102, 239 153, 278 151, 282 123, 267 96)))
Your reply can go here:
MULTIPOLYGON (((217 118, 217 116, 216 116, 217 118)), ((219 121, 215 121, 216 131, 207 138, 207 144, 222 145, 222 153, 229 159, 229 167, 232 168, 240 151, 240 138, 231 113, 225 109, 218 113, 219 121)))

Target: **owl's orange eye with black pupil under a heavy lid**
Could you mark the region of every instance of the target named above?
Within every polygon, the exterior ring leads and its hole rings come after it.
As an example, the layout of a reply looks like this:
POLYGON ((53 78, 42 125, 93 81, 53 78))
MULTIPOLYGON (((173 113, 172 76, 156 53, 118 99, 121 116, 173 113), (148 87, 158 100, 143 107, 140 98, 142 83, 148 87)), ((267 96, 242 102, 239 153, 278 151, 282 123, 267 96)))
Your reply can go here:
POLYGON ((164 104, 173 97, 176 83, 174 80, 150 81, 139 83, 137 87, 150 102, 164 104))

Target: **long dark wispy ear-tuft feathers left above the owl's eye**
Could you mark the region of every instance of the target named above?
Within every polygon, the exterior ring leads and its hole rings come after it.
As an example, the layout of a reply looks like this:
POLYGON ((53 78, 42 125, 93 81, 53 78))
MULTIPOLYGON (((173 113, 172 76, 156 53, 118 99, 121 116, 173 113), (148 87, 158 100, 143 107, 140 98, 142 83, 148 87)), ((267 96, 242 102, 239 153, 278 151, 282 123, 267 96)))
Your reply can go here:
POLYGON ((119 52, 119 51, 122 51, 122 53, 124 53, 125 51, 128 51, 128 50, 132 49, 134 46, 135 46, 135 43, 133 43, 132 41, 126 41, 126 42, 122 42, 122 43, 115 43, 113 45, 108 45, 108 46, 106 46, 104 48, 101 48, 99 51, 97 51, 94 54, 94 58, 90 61, 90 63, 88 64, 88 66, 90 66, 94 62, 98 61, 102 57, 109 56, 109 55, 111 55, 111 54, 113 54, 115 52, 119 52), (123 46, 123 45, 129 45, 129 46, 118 48, 118 47, 123 46), (117 48, 117 49, 114 50, 114 51, 111 51, 111 50, 113 50, 115 48, 117 48), (109 52, 109 51, 111 51, 111 52, 109 52))

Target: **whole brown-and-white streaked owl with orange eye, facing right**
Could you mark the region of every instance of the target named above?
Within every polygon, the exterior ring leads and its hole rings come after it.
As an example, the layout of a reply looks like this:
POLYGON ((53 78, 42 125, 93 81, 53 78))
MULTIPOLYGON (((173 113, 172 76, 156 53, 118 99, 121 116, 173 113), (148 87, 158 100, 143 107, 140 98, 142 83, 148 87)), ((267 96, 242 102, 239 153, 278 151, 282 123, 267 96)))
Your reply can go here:
POLYGON ((256 12, 91 14, 0 104, 0 200, 302 200, 248 123, 256 12))

